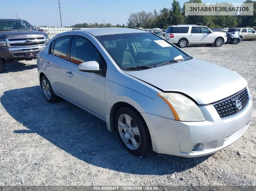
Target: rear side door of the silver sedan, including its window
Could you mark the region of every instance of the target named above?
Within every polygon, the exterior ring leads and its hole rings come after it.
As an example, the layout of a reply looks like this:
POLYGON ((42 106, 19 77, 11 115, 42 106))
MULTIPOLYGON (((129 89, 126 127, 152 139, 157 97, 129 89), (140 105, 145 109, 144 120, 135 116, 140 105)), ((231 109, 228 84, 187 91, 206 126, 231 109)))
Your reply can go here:
POLYGON ((70 36, 60 37, 51 43, 48 56, 45 57, 45 72, 55 94, 69 97, 66 83, 66 64, 70 36))

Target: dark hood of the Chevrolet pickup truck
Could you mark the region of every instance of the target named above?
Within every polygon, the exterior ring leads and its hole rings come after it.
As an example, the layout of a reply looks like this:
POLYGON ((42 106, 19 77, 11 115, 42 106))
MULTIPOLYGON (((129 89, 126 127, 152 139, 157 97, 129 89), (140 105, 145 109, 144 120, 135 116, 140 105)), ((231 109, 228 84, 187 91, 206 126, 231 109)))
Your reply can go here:
POLYGON ((2 30, 0 38, 22 38, 22 37, 41 37, 46 36, 45 33, 37 30, 2 30))

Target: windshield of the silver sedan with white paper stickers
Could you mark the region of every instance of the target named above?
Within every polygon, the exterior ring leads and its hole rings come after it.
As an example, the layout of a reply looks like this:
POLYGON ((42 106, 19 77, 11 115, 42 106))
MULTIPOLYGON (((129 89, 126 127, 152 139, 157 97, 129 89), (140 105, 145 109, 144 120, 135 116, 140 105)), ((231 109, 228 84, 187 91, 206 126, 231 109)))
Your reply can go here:
POLYGON ((152 33, 112 34, 96 38, 121 69, 142 65, 155 67, 176 59, 190 58, 178 48, 152 33))

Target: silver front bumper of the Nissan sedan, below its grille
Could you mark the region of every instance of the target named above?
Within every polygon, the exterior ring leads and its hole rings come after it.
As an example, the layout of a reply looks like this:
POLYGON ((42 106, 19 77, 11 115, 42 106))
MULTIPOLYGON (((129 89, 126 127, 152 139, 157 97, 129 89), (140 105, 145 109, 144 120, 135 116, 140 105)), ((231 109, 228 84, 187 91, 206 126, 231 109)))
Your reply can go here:
POLYGON ((221 119, 213 105, 200 107, 206 119, 202 122, 180 122, 148 113, 141 115, 148 125, 155 152, 200 157, 228 147, 246 132, 252 115, 251 100, 250 95, 247 107, 228 119, 221 119), (198 143, 198 149, 192 151, 198 143))

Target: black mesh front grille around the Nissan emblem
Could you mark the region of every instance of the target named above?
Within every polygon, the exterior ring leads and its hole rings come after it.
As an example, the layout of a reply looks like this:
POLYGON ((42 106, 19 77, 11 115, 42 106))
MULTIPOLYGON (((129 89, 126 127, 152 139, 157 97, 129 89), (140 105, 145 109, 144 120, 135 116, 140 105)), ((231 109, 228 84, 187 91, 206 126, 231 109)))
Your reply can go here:
POLYGON ((234 96, 225 99, 224 101, 221 101, 219 103, 214 104, 216 111, 218 112, 219 116, 221 118, 232 116, 238 112, 240 112, 248 103, 248 92, 246 88, 235 94, 234 96), (238 109, 236 107, 236 100, 240 100, 242 107, 238 109))

